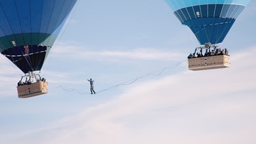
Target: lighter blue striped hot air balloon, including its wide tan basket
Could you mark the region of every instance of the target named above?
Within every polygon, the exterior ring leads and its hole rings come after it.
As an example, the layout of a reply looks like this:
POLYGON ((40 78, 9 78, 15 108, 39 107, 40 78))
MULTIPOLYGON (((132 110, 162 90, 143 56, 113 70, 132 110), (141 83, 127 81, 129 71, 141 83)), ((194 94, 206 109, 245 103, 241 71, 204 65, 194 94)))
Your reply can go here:
POLYGON ((188 26, 201 44, 195 49, 195 53, 188 57, 188 69, 208 70, 229 67, 228 51, 221 50, 218 44, 223 42, 238 15, 251 0, 165 1, 180 23, 188 26))

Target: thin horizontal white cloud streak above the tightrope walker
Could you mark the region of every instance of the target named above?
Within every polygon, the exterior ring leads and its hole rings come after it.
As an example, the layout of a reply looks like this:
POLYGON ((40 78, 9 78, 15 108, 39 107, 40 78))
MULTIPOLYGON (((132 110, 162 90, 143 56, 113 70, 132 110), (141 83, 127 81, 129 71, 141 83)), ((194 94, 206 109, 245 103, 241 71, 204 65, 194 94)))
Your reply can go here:
POLYGON ((129 61, 137 61, 139 59, 172 61, 184 56, 184 54, 174 51, 161 51, 160 48, 137 48, 130 51, 91 51, 84 47, 66 46, 63 44, 58 44, 51 55, 70 57, 73 60, 91 59, 94 61, 124 61, 126 59, 129 61))

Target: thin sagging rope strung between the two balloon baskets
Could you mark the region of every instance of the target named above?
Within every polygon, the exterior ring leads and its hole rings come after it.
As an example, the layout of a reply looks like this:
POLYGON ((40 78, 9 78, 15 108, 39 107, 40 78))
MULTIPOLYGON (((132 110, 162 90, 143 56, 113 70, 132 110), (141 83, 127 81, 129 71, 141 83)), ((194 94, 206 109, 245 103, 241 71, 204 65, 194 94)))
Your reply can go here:
MULTIPOLYGON (((145 78, 145 77, 147 77, 147 76, 160 76, 160 75, 161 75, 163 72, 165 72, 166 70, 170 70, 170 69, 177 68, 177 66, 179 66, 179 65, 180 65, 181 63, 183 63, 183 62, 184 62, 184 61, 179 62, 179 63, 175 64, 174 66, 167 66, 167 67, 162 68, 162 69, 160 69, 160 70, 156 70, 156 71, 154 71, 154 72, 150 72, 150 73, 145 74, 145 75, 143 75, 143 76, 139 76, 139 77, 137 77, 137 78, 133 78, 133 79, 131 79, 131 80, 129 80, 129 81, 126 81, 126 82, 124 82, 124 83, 119 83, 119 84, 114 85, 114 86, 112 86, 112 87, 109 87, 109 88, 106 88, 106 89, 102 89, 102 90, 96 92, 96 94, 97 94, 97 93, 101 93, 101 92, 103 92, 103 91, 108 91, 109 89, 115 89, 115 88, 117 88, 117 87, 119 87, 119 86, 132 85, 132 83, 135 83, 135 82, 138 81, 139 79, 145 78)), ((53 83, 51 83, 51 84, 53 84, 53 83)), ((55 84, 54 84, 54 85, 55 85, 55 84)), ((79 94, 81 94, 81 95, 91 94, 91 93, 88 93, 88 92, 81 91, 81 90, 79 90, 79 89, 72 89, 72 88, 68 88, 68 87, 63 87, 62 85, 57 85, 57 87, 55 87, 55 88, 56 88, 56 89, 57 89, 57 88, 61 88, 63 91, 68 91, 68 92, 76 92, 76 93, 79 93, 79 94)))

